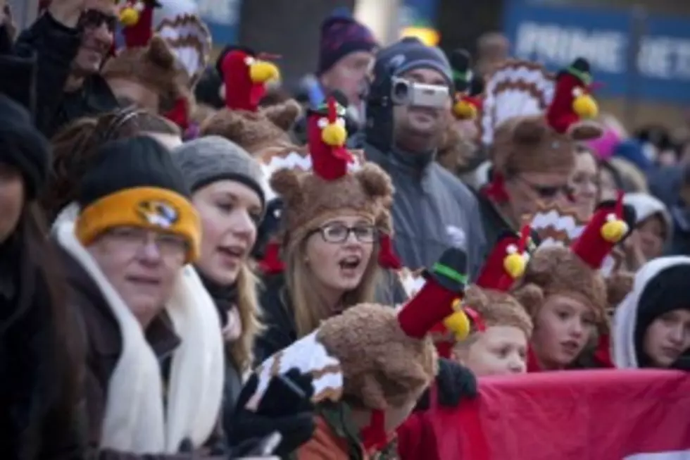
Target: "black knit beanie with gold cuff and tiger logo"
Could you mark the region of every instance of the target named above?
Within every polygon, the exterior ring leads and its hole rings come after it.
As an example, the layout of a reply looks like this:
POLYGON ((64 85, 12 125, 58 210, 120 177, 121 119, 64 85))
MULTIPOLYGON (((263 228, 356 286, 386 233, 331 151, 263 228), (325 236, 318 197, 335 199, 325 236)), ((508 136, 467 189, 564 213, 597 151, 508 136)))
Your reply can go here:
POLYGON ((77 193, 77 239, 88 246, 111 228, 128 226, 170 232, 188 243, 196 260, 201 221, 170 151, 148 136, 103 144, 77 193))

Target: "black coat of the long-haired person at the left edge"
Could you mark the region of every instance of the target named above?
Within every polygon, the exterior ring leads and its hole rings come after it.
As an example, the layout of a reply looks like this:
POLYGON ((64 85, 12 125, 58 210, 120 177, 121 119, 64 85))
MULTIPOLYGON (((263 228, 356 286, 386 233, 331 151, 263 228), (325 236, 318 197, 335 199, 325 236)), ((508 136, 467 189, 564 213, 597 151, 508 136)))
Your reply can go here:
MULTIPOLYGON (((81 356, 56 336, 48 286, 31 250, 16 241, 0 247, 0 456, 84 459, 81 356)), ((77 318, 67 321, 72 334, 77 318)))

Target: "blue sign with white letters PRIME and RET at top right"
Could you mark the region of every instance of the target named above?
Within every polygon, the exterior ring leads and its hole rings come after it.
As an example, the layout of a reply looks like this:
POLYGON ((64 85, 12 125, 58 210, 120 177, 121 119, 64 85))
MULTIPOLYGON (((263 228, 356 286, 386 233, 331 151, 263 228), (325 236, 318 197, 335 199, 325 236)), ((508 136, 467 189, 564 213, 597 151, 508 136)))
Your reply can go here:
POLYGON ((513 0, 505 30, 513 56, 551 70, 582 56, 589 59, 597 94, 690 103, 690 20, 650 15, 641 22, 639 52, 632 56, 633 13, 566 6, 534 6, 513 0))

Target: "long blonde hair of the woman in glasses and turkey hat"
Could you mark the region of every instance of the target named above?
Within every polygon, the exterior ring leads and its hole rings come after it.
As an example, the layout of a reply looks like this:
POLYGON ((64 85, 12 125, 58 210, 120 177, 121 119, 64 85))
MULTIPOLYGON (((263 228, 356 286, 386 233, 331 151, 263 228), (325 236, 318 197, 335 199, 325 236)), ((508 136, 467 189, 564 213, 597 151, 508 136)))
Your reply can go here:
MULTIPOLYGON (((311 282, 313 271, 304 257, 306 242, 307 238, 302 240, 300 244, 288 245, 285 254, 287 294, 289 295, 289 304, 292 306, 297 338, 311 334, 319 327, 321 321, 333 316, 331 311, 325 309, 318 293, 313 289, 311 282)), ((344 309, 357 304, 373 302, 379 274, 378 253, 378 244, 374 244, 374 250, 359 285, 354 290, 343 294, 341 301, 344 309)))

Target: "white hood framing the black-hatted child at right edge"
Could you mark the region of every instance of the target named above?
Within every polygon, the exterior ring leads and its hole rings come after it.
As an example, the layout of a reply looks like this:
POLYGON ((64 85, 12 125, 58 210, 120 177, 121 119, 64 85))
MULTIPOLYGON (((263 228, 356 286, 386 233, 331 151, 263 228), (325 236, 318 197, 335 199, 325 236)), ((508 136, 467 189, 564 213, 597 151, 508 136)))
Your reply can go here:
POLYGON ((690 265, 690 257, 660 257, 645 263, 635 274, 632 291, 616 307, 613 316, 611 356, 617 368, 639 368, 635 348, 637 309, 644 288, 656 275, 666 268, 690 265))

